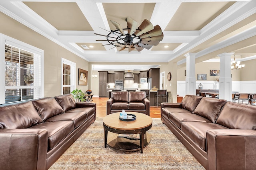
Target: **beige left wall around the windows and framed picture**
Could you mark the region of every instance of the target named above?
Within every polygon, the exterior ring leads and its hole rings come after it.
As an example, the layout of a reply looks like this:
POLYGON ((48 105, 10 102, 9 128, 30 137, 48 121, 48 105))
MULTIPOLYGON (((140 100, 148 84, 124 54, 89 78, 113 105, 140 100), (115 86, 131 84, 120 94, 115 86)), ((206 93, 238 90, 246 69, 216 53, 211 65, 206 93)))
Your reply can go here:
POLYGON ((76 63, 76 88, 88 89, 88 86, 78 86, 78 68, 88 70, 84 59, 3 13, 0 13, 0 33, 44 50, 44 97, 61 94, 61 58, 76 63))

